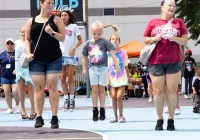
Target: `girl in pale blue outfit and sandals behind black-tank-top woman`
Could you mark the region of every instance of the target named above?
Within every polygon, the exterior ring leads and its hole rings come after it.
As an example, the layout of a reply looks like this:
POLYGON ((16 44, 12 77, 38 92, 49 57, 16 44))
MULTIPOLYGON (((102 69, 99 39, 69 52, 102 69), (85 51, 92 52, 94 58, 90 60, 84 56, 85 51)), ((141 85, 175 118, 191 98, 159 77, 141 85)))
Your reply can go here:
POLYGON ((22 119, 33 120, 36 117, 35 104, 34 104, 34 83, 29 74, 29 68, 22 68, 19 64, 19 57, 22 53, 26 53, 25 49, 25 26, 20 28, 21 39, 15 41, 15 70, 16 70, 16 83, 19 88, 19 97, 21 103, 21 117, 22 119), (30 97, 31 103, 31 113, 30 116, 27 115, 25 109, 25 93, 26 86, 28 86, 28 95, 30 97))

